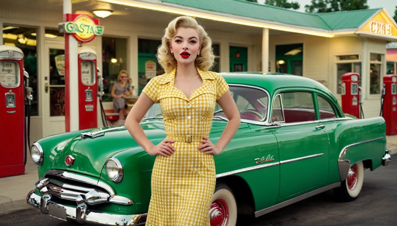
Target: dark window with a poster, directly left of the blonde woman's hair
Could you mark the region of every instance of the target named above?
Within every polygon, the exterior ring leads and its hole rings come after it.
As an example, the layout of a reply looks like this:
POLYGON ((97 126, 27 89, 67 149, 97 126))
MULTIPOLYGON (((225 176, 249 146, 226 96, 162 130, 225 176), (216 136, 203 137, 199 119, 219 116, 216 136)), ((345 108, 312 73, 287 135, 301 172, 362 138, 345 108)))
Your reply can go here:
POLYGON ((138 39, 138 95, 150 79, 165 73, 156 57, 160 45, 161 40, 138 39))

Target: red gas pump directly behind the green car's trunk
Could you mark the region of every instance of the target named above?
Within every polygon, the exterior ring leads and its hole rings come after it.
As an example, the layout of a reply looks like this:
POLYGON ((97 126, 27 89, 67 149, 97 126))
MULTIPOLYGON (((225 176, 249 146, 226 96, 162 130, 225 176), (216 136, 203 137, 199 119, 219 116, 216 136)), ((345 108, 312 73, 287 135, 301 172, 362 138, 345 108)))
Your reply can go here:
POLYGON ((360 75, 354 72, 342 75, 342 111, 357 118, 364 118, 359 78, 360 75))

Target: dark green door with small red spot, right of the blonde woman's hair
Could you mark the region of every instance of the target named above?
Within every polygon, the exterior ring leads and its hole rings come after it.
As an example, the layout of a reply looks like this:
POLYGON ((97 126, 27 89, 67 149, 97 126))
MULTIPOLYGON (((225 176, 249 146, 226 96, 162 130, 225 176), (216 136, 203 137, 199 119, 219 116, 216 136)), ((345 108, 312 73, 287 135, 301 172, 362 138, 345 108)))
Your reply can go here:
POLYGON ((247 47, 229 47, 230 72, 247 71, 248 49, 247 47))

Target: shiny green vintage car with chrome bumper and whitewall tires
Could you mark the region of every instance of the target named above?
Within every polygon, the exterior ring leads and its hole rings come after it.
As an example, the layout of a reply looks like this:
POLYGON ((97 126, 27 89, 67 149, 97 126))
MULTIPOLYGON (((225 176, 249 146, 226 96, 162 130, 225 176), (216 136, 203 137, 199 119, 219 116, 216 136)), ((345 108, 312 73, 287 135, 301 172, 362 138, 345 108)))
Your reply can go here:
MULTIPOLYGON (((362 188, 364 169, 391 161, 384 119, 345 116, 324 85, 286 74, 221 75, 241 126, 214 156, 211 226, 234 226, 239 214, 259 217, 331 189, 352 201, 362 188)), ((216 106, 212 142, 226 123, 216 106)), ((166 137, 158 104, 141 126, 154 144, 166 137)), ((39 165, 39 181, 27 203, 42 213, 81 224, 145 224, 155 157, 124 126, 45 137, 33 144, 31 157, 39 165)))

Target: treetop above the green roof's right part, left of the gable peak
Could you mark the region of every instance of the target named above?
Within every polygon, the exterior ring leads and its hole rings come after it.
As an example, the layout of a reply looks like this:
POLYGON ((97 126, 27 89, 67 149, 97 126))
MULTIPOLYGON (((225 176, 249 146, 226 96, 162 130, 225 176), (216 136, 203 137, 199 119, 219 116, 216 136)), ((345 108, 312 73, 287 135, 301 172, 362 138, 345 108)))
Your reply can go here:
POLYGON ((308 13, 326 13, 368 9, 367 0, 312 0, 311 5, 304 6, 308 13))

